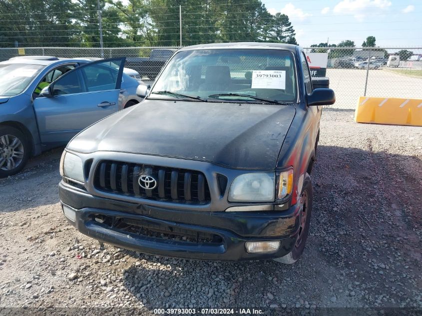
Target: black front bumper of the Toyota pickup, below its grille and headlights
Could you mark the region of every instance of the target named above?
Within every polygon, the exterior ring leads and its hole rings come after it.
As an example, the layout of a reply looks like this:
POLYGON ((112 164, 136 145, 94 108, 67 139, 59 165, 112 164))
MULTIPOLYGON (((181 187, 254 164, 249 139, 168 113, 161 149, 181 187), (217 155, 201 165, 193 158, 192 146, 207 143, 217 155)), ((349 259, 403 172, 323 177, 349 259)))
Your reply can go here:
POLYGON ((279 258, 294 247, 300 223, 297 205, 285 211, 180 211, 95 197, 62 182, 59 196, 63 205, 75 211, 76 220, 67 220, 82 234, 117 247, 165 257, 220 261, 279 258), (109 226, 106 222, 99 223, 96 217, 218 236, 218 242, 176 241, 138 235, 109 226), (247 241, 272 240, 280 241, 277 252, 251 254, 246 251, 247 241))

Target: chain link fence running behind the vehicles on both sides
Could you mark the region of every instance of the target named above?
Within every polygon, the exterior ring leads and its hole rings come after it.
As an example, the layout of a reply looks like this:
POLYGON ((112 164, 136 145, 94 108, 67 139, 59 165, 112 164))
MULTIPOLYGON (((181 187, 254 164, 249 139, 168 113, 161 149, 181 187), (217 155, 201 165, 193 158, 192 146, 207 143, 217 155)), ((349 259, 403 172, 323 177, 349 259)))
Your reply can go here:
MULTIPOLYGON (((0 48, 0 61, 20 55, 67 58, 127 57, 125 66, 136 70, 145 81, 153 81, 166 60, 179 47, 25 47, 0 48)), ((335 108, 354 109, 360 96, 422 98, 422 47, 306 47, 318 53, 325 64, 311 70, 326 73, 336 92, 335 108), (324 71, 326 66, 326 71, 324 71), (323 70, 323 72, 321 72, 323 70)), ((315 56, 311 55, 310 56, 315 56)))

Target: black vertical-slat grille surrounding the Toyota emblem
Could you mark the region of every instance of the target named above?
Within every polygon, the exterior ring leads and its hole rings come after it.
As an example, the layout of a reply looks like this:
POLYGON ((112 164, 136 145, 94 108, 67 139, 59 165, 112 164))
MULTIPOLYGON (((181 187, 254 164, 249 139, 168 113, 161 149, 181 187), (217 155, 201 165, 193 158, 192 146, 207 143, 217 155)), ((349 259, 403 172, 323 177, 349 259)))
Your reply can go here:
POLYGON ((202 172, 120 161, 101 161, 95 170, 94 186, 104 192, 167 202, 206 204, 211 200, 202 172), (154 189, 139 186, 139 176, 144 174, 155 178, 154 189))

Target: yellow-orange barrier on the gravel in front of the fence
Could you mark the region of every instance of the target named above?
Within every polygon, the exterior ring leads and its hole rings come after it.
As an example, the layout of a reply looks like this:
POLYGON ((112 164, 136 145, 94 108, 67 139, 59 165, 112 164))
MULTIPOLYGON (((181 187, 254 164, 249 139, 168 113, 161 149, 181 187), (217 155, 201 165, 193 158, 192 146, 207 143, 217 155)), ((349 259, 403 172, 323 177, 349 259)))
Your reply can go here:
POLYGON ((361 96, 355 122, 422 126, 422 99, 361 96))

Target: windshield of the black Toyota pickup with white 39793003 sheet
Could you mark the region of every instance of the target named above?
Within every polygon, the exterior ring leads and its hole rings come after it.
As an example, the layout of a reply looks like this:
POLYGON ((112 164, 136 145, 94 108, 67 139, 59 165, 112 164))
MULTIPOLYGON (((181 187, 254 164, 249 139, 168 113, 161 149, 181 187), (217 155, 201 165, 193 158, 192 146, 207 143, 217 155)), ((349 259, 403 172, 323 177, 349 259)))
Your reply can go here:
POLYGON ((276 49, 180 51, 157 79, 149 98, 192 97, 208 101, 297 102, 293 53, 276 49))

